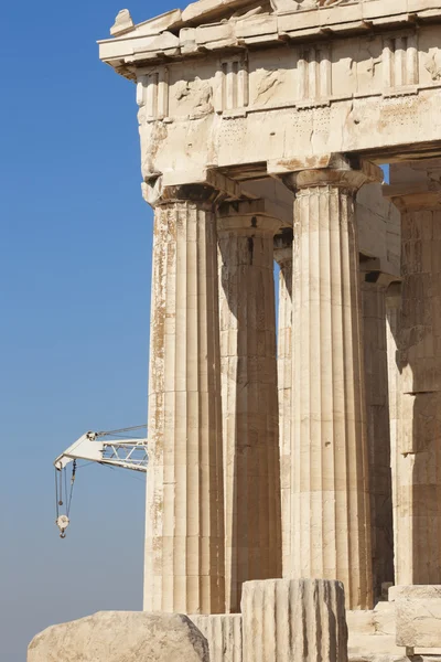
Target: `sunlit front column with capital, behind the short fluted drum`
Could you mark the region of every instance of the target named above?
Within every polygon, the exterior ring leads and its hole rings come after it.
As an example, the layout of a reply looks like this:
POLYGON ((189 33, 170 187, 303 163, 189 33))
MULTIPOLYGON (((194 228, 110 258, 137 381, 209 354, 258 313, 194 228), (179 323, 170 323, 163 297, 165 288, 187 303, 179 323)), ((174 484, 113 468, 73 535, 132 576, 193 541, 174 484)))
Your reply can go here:
POLYGON ((372 607, 358 245, 354 195, 377 169, 304 170, 295 191, 292 274, 291 564, 338 579, 349 609, 372 607))

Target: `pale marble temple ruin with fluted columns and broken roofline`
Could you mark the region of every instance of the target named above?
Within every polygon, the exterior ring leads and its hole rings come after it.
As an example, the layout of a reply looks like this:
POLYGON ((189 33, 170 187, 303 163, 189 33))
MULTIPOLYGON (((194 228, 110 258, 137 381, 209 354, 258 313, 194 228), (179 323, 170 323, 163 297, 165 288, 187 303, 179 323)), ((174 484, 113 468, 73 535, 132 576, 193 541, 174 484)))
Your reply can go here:
POLYGON ((154 209, 146 612, 212 662, 344 662, 345 607, 354 662, 439 659, 441 0, 111 35, 154 209))

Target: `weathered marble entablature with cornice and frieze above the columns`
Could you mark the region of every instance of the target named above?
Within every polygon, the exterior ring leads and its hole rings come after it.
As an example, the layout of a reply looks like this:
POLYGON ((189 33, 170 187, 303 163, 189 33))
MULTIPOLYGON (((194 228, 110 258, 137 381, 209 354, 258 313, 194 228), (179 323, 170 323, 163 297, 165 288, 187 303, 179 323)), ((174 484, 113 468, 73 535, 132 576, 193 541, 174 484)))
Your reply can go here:
POLYGON ((129 32, 119 18, 125 32, 100 57, 137 83, 146 180, 204 181, 208 168, 252 162, 277 174, 329 152, 387 162, 404 141, 409 152, 441 141, 438 0, 272 9, 200 0, 129 32))

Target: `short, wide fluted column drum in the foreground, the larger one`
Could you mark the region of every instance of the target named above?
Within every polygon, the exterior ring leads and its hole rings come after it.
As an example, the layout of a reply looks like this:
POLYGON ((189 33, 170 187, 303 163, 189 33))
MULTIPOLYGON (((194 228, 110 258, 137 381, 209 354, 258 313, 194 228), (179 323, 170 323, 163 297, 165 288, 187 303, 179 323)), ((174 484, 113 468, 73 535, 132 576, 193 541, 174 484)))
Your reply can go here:
POLYGON ((346 662, 343 584, 269 579, 243 587, 244 662, 346 662))

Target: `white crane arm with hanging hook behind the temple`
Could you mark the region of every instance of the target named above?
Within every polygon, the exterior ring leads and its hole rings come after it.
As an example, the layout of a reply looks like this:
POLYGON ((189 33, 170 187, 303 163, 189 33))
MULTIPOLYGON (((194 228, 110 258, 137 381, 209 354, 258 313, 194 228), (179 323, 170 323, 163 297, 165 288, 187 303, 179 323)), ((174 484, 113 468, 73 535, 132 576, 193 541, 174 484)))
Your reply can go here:
POLYGON ((98 462, 109 467, 121 467, 132 471, 142 471, 146 473, 149 461, 147 450, 147 439, 127 438, 127 433, 144 428, 139 425, 120 430, 109 430, 101 433, 86 433, 79 439, 69 446, 54 461, 55 467, 55 498, 56 498, 56 525, 60 528, 60 537, 66 537, 65 531, 69 525, 69 511, 72 493, 74 489, 77 460, 87 462, 98 462), (119 439, 108 439, 110 436, 120 436, 119 439), (67 490, 66 467, 73 462, 71 487, 67 490), (66 513, 61 514, 60 508, 66 505, 66 513))

